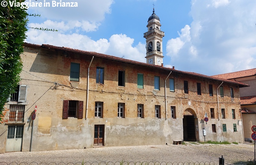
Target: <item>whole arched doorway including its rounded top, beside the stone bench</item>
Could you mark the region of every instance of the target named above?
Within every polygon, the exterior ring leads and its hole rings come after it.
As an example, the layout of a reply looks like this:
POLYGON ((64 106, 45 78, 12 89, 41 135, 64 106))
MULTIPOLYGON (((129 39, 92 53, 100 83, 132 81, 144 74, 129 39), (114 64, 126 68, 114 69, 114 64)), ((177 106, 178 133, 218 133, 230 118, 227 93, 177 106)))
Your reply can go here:
POLYGON ((196 124, 198 126, 196 113, 188 108, 183 114, 183 140, 196 141, 196 124))

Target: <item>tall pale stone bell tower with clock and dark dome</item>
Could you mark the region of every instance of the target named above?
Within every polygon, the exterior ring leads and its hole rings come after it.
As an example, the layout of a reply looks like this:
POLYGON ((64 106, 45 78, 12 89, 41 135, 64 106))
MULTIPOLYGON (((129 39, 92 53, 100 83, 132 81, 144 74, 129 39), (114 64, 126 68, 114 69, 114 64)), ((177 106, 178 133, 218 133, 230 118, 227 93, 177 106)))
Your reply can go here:
POLYGON ((147 49, 147 63, 153 65, 160 65, 163 63, 163 37, 164 32, 160 29, 160 19, 155 14, 155 8, 153 8, 153 14, 148 18, 148 32, 144 33, 146 38, 146 49, 147 49))

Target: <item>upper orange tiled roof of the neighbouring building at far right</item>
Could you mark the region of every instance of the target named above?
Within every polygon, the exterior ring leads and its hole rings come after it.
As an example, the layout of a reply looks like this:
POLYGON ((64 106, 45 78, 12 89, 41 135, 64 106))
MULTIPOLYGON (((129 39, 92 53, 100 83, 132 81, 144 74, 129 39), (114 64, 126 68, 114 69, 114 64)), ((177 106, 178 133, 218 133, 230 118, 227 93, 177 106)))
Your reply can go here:
POLYGON ((232 73, 225 73, 220 75, 213 75, 213 77, 224 78, 224 79, 234 79, 234 78, 248 77, 253 75, 256 75, 256 68, 242 70, 238 72, 232 72, 232 73))

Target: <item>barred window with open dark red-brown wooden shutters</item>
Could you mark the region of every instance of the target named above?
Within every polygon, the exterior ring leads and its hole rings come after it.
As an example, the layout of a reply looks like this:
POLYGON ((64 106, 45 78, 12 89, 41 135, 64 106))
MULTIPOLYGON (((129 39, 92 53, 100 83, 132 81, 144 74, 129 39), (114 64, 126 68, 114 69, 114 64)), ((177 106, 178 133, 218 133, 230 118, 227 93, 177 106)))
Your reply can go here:
POLYGON ((62 118, 83 118, 84 101, 63 100, 62 118))

